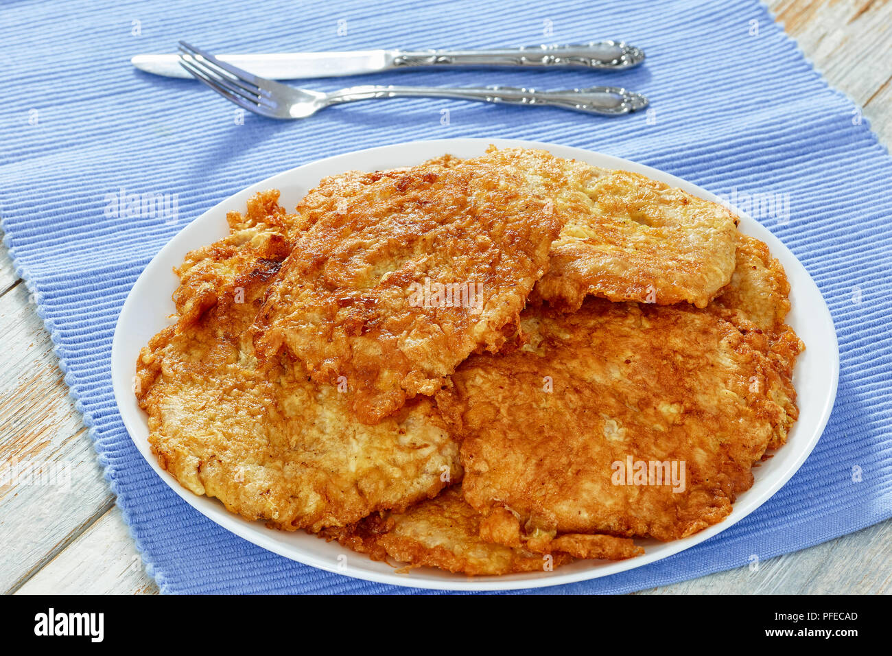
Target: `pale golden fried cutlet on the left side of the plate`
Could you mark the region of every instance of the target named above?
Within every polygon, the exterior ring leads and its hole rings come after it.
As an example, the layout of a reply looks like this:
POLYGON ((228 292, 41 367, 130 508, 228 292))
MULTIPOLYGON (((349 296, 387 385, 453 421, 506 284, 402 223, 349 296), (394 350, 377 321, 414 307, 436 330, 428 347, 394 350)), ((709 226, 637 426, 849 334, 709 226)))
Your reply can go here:
POLYGON ((161 467, 247 519, 310 531, 403 509, 460 477, 458 443, 429 399, 369 427, 287 353, 258 367, 248 328, 293 234, 244 219, 186 257, 175 298, 187 311, 140 353, 136 395, 161 467))

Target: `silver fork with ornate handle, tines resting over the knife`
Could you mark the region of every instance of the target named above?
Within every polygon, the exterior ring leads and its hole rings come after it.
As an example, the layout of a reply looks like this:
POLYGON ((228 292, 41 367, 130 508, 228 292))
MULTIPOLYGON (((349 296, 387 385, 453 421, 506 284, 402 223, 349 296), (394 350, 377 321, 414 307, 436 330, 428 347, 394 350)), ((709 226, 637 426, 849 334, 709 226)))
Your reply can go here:
POLYGON ((574 112, 616 116, 648 106, 643 95, 622 87, 589 87, 565 91, 536 91, 530 88, 478 87, 349 87, 325 94, 320 91, 288 87, 271 79, 260 78, 233 66, 210 53, 179 42, 179 63, 195 79, 219 95, 249 112, 274 119, 305 119, 333 104, 375 98, 428 97, 459 98, 483 103, 526 104, 560 107, 574 112))

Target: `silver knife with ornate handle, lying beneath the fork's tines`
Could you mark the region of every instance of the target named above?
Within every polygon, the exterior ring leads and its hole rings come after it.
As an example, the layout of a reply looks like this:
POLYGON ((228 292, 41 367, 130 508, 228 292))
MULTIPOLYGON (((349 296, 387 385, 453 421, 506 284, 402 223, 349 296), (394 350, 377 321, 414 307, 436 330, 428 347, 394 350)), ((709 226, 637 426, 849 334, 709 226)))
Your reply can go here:
MULTIPOLYGON (((495 50, 361 50, 333 53, 218 54, 218 59, 268 79, 334 78, 419 66, 582 66, 622 70, 644 61, 644 52, 622 41, 579 46, 527 46, 495 50)), ((140 71, 190 78, 178 54, 137 54, 140 71)))

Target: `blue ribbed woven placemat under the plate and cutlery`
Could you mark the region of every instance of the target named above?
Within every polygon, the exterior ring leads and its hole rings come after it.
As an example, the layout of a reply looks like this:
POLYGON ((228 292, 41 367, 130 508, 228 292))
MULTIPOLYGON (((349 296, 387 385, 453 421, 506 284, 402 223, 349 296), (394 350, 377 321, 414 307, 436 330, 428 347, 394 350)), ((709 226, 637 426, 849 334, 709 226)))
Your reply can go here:
POLYGON ((746 566, 892 515, 892 160, 846 97, 755 0, 329 0, 263 4, 5 4, 0 21, 0 200, 18 270, 36 293, 65 381, 153 576, 169 593, 412 592, 288 561, 194 511, 145 463, 111 393, 111 337, 140 271, 170 237, 253 182, 333 154, 441 137, 516 137, 646 163, 717 194, 780 194, 760 218, 820 286, 836 323, 836 407, 805 466, 761 509, 687 552, 551 593, 626 593, 746 566), (138 21, 138 22, 136 22, 138 21), (339 22, 341 21, 341 22, 339 22), (550 34, 548 33, 550 30, 550 34), (340 34, 339 34, 340 31, 340 34), (345 33, 344 33, 345 32, 345 33), (487 47, 623 38, 648 62, 616 74, 410 71, 350 84, 623 85, 654 112, 602 119, 435 99, 376 101, 305 121, 251 114, 205 87, 135 71, 131 55, 487 47), (696 55, 696 56, 692 56, 696 55), (450 110, 448 125, 442 110, 450 110), (178 220, 106 216, 106 196, 178 195, 178 220), (786 195, 786 196, 784 196, 786 195), (860 467, 855 482, 852 468, 860 467))

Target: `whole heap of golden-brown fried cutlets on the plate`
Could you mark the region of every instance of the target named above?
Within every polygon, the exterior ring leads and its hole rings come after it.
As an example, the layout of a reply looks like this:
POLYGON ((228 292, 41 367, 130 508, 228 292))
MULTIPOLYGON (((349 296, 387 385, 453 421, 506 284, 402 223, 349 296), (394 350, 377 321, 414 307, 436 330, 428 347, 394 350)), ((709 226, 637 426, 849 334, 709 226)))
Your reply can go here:
POLYGON ((797 418, 780 263, 643 176, 491 148, 227 220, 137 398, 161 466, 248 519, 407 569, 621 560, 724 519, 797 418))

